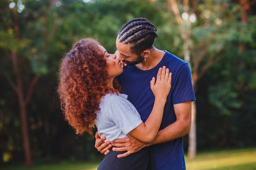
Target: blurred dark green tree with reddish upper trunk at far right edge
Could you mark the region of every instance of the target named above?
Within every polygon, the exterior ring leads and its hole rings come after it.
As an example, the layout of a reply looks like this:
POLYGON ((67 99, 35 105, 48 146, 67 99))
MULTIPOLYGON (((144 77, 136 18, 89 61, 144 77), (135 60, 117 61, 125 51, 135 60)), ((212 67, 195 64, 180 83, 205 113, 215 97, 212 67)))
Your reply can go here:
POLYGON ((237 9, 241 15, 230 28, 228 36, 232 49, 227 53, 225 62, 215 65, 217 69, 225 69, 213 76, 213 79, 225 81, 217 81, 209 88, 209 102, 218 108, 220 117, 223 117, 222 130, 218 130, 220 148, 225 145, 244 146, 245 143, 252 145, 246 136, 255 137, 254 133, 247 132, 255 128, 252 126, 256 121, 255 105, 252 104, 256 94, 256 18, 252 16, 252 7, 255 8, 249 5, 246 11, 243 6, 237 9))

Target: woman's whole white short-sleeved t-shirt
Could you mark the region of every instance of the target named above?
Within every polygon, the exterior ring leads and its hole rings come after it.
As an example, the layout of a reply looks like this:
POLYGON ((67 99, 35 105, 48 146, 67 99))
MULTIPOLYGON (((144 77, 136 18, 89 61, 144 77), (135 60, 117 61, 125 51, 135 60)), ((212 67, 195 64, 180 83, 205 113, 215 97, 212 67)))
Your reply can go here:
POLYGON ((114 141, 128 136, 128 133, 139 126, 142 120, 136 108, 128 101, 125 94, 106 94, 99 104, 95 125, 99 136, 105 141, 114 141))

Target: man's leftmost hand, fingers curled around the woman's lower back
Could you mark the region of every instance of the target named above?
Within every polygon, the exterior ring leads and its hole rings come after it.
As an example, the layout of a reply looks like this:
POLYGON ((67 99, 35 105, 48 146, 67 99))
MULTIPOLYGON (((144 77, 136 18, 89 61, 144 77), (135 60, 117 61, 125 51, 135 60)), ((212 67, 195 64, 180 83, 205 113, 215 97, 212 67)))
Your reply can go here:
POLYGON ((112 147, 112 144, 110 141, 104 142, 106 140, 106 137, 99 137, 98 131, 95 134, 95 145, 94 147, 101 153, 104 153, 104 155, 107 155, 110 151, 109 149, 112 147))

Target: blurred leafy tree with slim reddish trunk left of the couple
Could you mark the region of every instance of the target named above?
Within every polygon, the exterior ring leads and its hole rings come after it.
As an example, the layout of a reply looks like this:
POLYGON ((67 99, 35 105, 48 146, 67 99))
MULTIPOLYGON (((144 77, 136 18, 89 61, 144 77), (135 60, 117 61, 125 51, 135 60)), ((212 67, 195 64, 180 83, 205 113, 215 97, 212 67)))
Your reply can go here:
POLYGON ((12 2, 2 2, 3 6, 1 7, 4 7, 3 11, 9 15, 9 19, 5 18, 6 15, 2 17, 4 25, 0 30, 3 35, 0 47, 12 62, 13 75, 4 70, 2 70, 2 73, 18 98, 25 164, 26 166, 31 166, 32 157, 27 105, 31 100, 34 86, 38 82, 40 75, 48 72, 46 49, 56 31, 58 19, 56 18, 54 26, 49 27, 48 15, 50 13, 45 9, 54 7, 54 0, 28 3, 26 5, 27 2, 30 1, 13 0, 12 2), (42 6, 39 6, 39 3, 42 6), (41 9, 38 7, 41 7, 41 9), (31 8, 38 8, 38 11, 33 13, 31 8), (23 11, 24 9, 26 12, 23 11), (40 27, 40 29, 35 29, 36 26, 40 27), (40 33, 43 36, 38 36, 40 33), (26 62, 30 62, 30 66, 26 62))

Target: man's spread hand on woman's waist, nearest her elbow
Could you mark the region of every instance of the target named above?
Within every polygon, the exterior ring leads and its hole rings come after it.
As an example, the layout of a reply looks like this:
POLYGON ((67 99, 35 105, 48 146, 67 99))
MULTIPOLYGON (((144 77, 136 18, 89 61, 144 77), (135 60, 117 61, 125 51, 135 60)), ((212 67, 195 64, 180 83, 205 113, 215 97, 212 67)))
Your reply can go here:
POLYGON ((135 139, 134 137, 129 136, 124 139, 116 139, 115 141, 113 141, 112 145, 115 146, 114 148, 112 148, 113 151, 117 151, 117 152, 127 151, 123 154, 117 155, 118 158, 123 158, 123 157, 127 157, 132 153, 138 152, 139 150, 141 150, 146 146, 149 146, 150 144, 141 142, 135 139))

